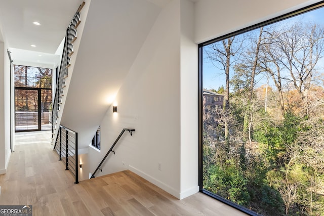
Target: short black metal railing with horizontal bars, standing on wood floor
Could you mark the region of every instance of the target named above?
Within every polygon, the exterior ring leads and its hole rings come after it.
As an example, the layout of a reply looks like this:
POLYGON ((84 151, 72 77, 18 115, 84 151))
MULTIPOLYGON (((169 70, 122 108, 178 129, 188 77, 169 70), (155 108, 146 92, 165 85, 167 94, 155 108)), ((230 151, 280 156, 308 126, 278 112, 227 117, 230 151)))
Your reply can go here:
POLYGON ((78 184, 78 152, 77 133, 60 125, 56 139, 55 150, 65 163, 65 170, 70 170, 75 177, 74 184, 78 184))

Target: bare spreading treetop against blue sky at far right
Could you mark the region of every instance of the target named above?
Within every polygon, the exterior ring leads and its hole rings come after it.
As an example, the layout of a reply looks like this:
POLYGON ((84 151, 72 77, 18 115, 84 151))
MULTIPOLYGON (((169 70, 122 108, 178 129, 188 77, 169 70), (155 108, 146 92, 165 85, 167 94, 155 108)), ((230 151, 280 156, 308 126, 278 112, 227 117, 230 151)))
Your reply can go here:
POLYGON ((324 29, 298 22, 282 28, 274 41, 277 62, 289 71, 287 79, 300 95, 304 115, 308 115, 308 91, 316 65, 324 54, 324 29))

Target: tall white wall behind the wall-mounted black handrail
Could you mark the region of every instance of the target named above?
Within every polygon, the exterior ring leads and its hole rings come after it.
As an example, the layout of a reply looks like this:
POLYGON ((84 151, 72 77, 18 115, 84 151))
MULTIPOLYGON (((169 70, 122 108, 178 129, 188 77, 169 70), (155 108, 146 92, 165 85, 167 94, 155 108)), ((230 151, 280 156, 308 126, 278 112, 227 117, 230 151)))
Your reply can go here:
MULTIPOLYGON (((135 128, 116 145, 103 172, 130 169, 180 198, 180 1, 159 14, 101 123, 101 153, 90 148, 93 171, 123 127, 135 128), (136 119, 135 119, 136 118, 136 119), (123 165, 124 161, 124 165, 123 165), (158 163, 161 170, 158 170, 158 163)), ((96 174, 96 176, 98 176, 96 174)))

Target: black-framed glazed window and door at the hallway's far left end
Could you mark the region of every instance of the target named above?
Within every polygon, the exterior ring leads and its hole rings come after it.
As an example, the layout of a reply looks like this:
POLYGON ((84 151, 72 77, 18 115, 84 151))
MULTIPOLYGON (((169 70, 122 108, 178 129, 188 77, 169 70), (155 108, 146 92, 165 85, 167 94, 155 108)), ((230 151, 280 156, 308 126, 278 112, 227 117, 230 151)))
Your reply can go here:
POLYGON ((52 69, 14 65, 15 131, 51 129, 52 69))

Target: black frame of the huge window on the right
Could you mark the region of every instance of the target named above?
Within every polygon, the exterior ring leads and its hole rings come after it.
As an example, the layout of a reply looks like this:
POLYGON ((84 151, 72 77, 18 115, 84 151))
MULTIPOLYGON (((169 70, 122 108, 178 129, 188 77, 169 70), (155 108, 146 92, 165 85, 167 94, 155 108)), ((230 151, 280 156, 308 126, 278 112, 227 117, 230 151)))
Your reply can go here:
POLYGON ((227 39, 228 37, 232 37, 238 34, 246 33, 248 31, 255 30, 257 28, 261 28, 262 26, 270 25, 275 22, 279 22, 294 16, 298 16, 303 13, 307 13, 312 10, 316 10, 318 8, 324 7, 324 1, 320 1, 318 3, 303 7, 301 9, 292 11, 290 13, 269 19, 264 22, 257 23, 255 25, 242 28, 240 30, 225 34, 223 36, 208 40, 206 42, 202 42, 201 44, 198 44, 198 184, 199 184, 199 192, 204 193, 206 195, 209 195, 231 207, 234 207, 242 212, 245 212, 249 215, 260 215, 244 206, 241 206, 237 203, 234 203, 228 199, 225 199, 217 194, 214 194, 208 190, 203 189, 203 114, 204 114, 204 106, 203 106, 203 62, 204 62, 204 50, 203 48, 205 46, 208 46, 210 44, 213 44, 215 42, 227 39))

